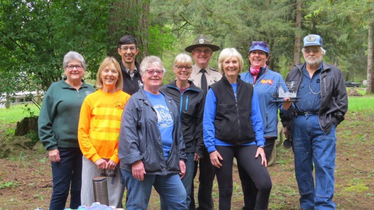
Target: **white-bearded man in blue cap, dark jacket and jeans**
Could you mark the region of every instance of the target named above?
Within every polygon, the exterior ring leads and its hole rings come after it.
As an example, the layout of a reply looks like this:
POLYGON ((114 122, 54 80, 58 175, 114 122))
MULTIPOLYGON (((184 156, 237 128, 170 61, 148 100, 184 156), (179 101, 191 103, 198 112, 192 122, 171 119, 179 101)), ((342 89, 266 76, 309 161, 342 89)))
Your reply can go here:
POLYGON ((295 114, 282 116, 282 124, 288 125, 286 137, 289 132, 293 138, 301 209, 333 210, 335 128, 347 112, 347 91, 340 70, 322 61, 326 50, 319 35, 306 36, 302 51, 305 63, 295 65, 286 78, 297 82, 295 114))

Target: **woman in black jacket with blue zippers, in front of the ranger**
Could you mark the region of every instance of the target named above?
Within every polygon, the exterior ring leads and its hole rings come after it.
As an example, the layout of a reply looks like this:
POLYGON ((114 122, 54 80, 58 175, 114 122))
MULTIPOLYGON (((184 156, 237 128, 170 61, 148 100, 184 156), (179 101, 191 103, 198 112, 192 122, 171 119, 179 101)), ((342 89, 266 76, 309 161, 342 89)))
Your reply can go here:
MULTIPOLYGON (((195 162, 203 157, 203 112, 204 92, 188 78, 192 72, 192 59, 180 53, 174 59, 173 71, 177 79, 164 85, 160 90, 173 98, 179 108, 180 122, 187 155, 186 174, 182 182, 187 192, 187 208, 191 203, 191 185, 195 162)), ((164 202, 161 202, 161 205, 164 202)))

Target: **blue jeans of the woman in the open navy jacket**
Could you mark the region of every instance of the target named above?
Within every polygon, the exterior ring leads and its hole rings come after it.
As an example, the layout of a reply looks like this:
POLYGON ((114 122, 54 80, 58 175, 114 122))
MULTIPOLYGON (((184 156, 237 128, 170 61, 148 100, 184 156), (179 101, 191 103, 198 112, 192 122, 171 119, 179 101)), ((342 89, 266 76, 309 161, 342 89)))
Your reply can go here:
POLYGON ((147 210, 152 186, 166 202, 162 210, 187 210, 186 189, 178 174, 144 175, 139 181, 132 172, 121 169, 121 173, 127 188, 126 210, 147 210))

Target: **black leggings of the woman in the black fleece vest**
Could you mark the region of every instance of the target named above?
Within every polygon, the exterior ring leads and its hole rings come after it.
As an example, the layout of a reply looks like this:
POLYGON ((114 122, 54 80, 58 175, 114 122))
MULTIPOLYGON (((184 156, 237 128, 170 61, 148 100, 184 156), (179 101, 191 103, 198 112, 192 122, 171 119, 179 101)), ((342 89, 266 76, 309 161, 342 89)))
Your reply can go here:
POLYGON ((233 159, 242 166, 245 172, 253 180, 258 193, 255 210, 266 210, 269 203, 272 180, 265 166, 261 166, 261 157, 255 158, 257 145, 248 146, 215 146, 223 160, 222 167, 214 168, 220 194, 220 210, 231 209, 231 197, 233 191, 232 168, 233 159))

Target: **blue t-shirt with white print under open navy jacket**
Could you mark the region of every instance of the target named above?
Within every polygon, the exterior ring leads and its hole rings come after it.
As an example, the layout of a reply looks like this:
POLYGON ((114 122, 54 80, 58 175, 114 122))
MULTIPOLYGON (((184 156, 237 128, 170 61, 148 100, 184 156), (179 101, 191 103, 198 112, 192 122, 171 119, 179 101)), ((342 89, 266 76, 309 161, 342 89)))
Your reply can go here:
POLYGON ((164 95, 161 93, 158 95, 151 94, 147 91, 144 91, 145 95, 151 102, 153 108, 157 113, 157 126, 161 134, 162 150, 165 160, 169 158, 169 151, 171 144, 173 142, 173 129, 174 121, 170 114, 168 104, 166 103, 164 95))

